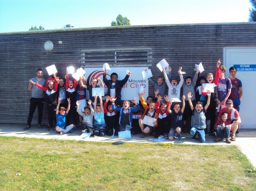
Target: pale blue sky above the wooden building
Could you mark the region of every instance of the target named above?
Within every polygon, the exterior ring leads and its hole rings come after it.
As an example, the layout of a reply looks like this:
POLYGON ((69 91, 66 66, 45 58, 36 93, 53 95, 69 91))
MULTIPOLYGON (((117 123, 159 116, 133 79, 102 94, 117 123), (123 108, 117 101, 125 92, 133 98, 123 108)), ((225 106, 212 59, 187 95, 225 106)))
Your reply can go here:
POLYGON ((110 26, 119 13, 131 25, 248 22, 249 8, 249 0, 0 0, 0 32, 110 26))

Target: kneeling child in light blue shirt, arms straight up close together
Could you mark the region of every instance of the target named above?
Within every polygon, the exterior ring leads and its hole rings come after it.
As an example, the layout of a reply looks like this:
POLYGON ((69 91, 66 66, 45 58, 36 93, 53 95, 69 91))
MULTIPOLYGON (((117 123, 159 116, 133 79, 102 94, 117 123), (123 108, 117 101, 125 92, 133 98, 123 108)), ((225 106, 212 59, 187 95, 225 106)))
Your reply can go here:
POLYGON ((102 105, 102 97, 99 95, 99 103, 97 104, 97 95, 94 97, 94 136, 104 137, 106 132, 106 123, 104 119, 104 108, 102 105))

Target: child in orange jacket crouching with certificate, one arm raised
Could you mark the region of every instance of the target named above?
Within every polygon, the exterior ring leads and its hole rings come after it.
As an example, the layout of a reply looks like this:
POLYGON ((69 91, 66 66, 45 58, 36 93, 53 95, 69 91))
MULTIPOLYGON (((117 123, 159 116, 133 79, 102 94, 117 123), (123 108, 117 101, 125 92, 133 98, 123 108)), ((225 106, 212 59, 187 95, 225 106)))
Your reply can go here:
POLYGON ((140 102, 145 109, 145 112, 143 113, 142 117, 139 119, 139 126, 142 131, 140 138, 144 138, 146 134, 154 131, 154 128, 157 126, 157 121, 153 122, 154 126, 143 124, 142 121, 143 121, 144 116, 146 115, 146 116, 153 117, 153 118, 157 119, 158 113, 155 110, 155 102, 151 102, 149 105, 147 105, 142 94, 138 94, 138 95, 140 98, 140 102))

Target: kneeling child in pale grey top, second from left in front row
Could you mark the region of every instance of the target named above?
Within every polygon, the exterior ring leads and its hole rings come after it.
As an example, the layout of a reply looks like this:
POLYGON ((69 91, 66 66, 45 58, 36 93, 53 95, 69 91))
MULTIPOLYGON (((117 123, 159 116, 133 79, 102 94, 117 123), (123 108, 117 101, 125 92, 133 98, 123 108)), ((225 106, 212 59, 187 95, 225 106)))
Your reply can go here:
POLYGON ((84 107, 84 112, 82 112, 79 109, 79 101, 76 101, 76 110, 79 113, 79 115, 81 115, 83 117, 83 121, 81 121, 81 125, 83 126, 83 129, 87 132, 87 133, 93 133, 93 116, 94 116, 94 110, 92 108, 92 101, 89 99, 88 100, 88 106, 84 107))

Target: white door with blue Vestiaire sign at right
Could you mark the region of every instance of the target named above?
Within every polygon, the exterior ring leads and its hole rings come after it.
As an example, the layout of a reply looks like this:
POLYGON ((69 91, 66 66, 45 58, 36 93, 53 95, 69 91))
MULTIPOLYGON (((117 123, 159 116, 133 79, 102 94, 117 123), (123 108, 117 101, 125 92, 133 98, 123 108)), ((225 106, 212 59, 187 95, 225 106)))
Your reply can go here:
POLYGON ((229 68, 236 66, 236 78, 243 85, 239 115, 243 128, 256 128, 256 47, 226 47, 223 49, 226 76, 229 68))

